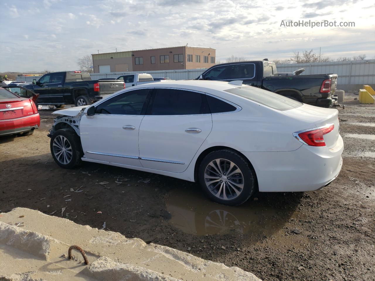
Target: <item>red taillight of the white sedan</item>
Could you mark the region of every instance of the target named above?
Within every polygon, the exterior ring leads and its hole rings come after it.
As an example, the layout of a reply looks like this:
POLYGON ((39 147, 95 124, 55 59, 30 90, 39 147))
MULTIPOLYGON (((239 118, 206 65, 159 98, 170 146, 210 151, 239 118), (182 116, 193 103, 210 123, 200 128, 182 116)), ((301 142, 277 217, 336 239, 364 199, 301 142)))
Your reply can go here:
POLYGON ((335 125, 329 124, 314 129, 298 131, 293 133, 293 136, 300 142, 310 146, 326 146, 323 136, 332 132, 333 128, 335 128, 335 125))

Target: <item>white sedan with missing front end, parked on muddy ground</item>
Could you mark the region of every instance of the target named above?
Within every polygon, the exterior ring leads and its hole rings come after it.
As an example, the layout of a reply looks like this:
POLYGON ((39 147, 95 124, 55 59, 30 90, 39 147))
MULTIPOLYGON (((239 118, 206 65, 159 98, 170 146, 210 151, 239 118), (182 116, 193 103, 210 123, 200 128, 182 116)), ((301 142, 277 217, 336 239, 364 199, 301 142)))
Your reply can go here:
POLYGON ((199 182, 225 205, 257 190, 318 190, 342 166, 336 109, 240 81, 144 84, 54 114, 59 166, 82 160, 199 182))

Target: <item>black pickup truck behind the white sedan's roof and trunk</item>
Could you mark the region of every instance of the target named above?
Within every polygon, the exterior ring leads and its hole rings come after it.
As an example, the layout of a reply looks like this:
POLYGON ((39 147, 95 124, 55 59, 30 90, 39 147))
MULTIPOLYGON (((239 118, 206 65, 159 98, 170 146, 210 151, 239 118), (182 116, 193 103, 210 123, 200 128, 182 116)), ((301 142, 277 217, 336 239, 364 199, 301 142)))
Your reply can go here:
POLYGON ((337 74, 278 76, 272 61, 243 61, 210 67, 195 80, 234 81, 272 91, 309 105, 330 107, 337 103, 333 97, 337 74))

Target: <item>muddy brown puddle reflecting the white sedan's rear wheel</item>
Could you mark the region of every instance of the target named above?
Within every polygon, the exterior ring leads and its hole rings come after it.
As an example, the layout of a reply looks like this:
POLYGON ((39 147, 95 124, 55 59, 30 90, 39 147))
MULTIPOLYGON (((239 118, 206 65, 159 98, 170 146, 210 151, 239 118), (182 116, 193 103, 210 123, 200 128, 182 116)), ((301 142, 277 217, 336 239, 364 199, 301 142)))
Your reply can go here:
POLYGON ((285 223, 281 210, 250 199, 241 206, 214 203, 195 192, 176 188, 166 198, 168 221, 184 233, 193 235, 240 234, 270 235, 285 223))

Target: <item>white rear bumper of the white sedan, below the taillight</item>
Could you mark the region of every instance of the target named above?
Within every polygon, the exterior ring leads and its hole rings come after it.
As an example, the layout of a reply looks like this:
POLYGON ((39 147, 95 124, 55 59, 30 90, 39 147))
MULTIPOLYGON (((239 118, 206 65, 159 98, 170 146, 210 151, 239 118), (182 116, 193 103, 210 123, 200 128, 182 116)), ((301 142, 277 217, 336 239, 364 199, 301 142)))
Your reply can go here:
POLYGON ((314 147, 302 145, 295 151, 242 152, 257 174, 259 191, 289 192, 319 190, 339 175, 344 142, 314 147))

